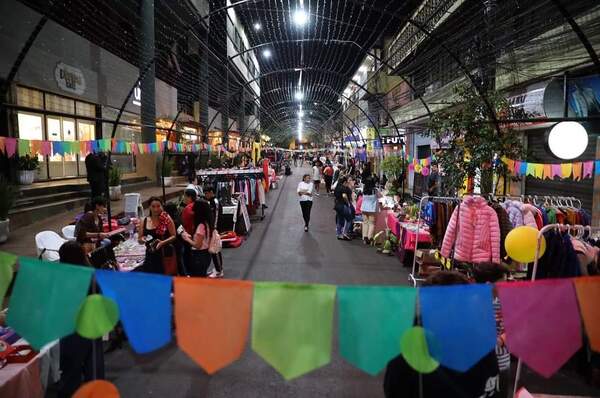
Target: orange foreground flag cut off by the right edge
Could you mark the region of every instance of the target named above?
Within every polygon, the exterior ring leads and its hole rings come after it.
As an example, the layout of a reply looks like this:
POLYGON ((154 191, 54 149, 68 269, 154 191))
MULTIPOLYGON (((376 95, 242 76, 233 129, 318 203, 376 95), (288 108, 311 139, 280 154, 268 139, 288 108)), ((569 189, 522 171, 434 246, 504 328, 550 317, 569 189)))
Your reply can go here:
POLYGON ((592 350, 600 351, 600 277, 574 278, 583 326, 592 350))

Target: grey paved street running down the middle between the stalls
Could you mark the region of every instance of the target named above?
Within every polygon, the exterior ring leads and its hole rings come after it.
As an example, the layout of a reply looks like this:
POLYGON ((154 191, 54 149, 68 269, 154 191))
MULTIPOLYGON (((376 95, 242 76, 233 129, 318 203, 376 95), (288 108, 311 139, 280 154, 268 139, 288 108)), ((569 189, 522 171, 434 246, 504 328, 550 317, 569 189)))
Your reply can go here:
MULTIPOLYGON (((405 284, 395 257, 359 241, 335 237, 333 199, 315 198, 312 225, 304 232, 296 195, 301 169, 268 197, 262 222, 238 249, 224 251, 228 278, 334 284, 405 284)), ((334 336, 335 336, 334 330, 334 336)), ((382 377, 371 377, 340 357, 334 338, 331 363, 286 382, 248 347, 231 366, 209 376, 175 344, 149 356, 120 350, 107 356, 107 376, 123 397, 381 397, 382 377)))

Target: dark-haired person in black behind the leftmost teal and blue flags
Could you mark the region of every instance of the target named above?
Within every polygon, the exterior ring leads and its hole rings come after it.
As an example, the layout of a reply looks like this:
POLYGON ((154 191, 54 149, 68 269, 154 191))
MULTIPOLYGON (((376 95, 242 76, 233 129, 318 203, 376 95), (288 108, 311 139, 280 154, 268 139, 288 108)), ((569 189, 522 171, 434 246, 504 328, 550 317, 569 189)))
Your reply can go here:
MULTIPOLYGON (((89 267, 82 245, 67 241, 58 250, 60 262, 89 267)), ((104 379, 102 339, 89 340, 73 333, 60 339, 60 370, 58 397, 71 397, 81 384, 104 379)))

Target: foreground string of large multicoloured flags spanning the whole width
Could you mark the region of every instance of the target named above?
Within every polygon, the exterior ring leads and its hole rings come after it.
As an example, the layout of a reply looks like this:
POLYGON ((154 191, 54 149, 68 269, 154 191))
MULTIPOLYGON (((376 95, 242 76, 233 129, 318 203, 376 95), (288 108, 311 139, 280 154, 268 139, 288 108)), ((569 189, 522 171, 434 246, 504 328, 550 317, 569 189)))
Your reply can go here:
MULTIPOLYGON (((16 261, 0 252, 0 297, 16 261)), ((18 261, 7 324, 36 349, 75 332, 98 338, 120 319, 132 349, 145 354, 171 342, 174 315, 179 348, 207 373, 239 359, 251 335, 252 349, 290 380, 330 362, 336 303, 340 354, 371 375, 400 354, 422 373, 435 370, 419 367, 425 358, 465 372, 496 344, 491 284, 210 280, 18 261), (102 295, 88 296, 93 280, 102 295), (413 326, 417 300, 422 327, 413 326), (107 305, 99 305, 103 301, 107 305), (421 337, 426 344, 405 344, 419 328, 427 332, 421 337), (415 346, 424 348, 415 352, 415 346)), ((495 288, 508 349, 542 376, 550 377, 582 347, 584 332, 592 350, 600 351, 600 277, 503 282, 495 288), (548 324, 560 327, 549 330, 548 324)))

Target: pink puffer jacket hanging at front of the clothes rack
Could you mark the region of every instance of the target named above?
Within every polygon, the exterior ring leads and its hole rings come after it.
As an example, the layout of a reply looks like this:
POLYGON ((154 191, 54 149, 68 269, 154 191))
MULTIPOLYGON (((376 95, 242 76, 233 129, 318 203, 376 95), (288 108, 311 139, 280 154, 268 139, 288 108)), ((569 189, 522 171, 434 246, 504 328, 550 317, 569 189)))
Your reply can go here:
POLYGON ((500 225, 494 209, 488 206, 484 198, 478 196, 465 197, 460 211, 458 209, 454 210, 450 218, 442 244, 442 256, 450 257, 456 241, 456 260, 500 264, 500 225), (460 220, 457 220, 458 217, 460 220))

